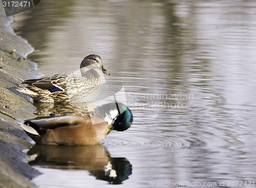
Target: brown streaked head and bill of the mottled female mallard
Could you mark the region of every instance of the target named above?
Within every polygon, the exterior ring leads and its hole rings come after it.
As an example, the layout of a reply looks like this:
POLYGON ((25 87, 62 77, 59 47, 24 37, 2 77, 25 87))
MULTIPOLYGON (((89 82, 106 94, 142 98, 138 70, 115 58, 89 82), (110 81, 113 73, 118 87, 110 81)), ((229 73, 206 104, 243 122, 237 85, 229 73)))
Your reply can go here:
POLYGON ((82 68, 90 69, 89 67, 97 68, 101 70, 103 73, 110 75, 110 73, 104 68, 100 56, 96 54, 91 54, 85 57, 80 64, 80 69, 82 68))

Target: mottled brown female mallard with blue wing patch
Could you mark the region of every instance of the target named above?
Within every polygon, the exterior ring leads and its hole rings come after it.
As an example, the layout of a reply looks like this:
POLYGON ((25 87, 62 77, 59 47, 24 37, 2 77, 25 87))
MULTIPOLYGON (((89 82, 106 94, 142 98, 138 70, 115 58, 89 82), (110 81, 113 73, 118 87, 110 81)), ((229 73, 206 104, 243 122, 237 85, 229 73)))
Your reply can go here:
POLYGON ((96 68, 110 75, 101 58, 92 54, 82 60, 81 76, 59 73, 39 79, 28 79, 22 83, 28 86, 19 88, 18 91, 33 98, 34 102, 90 102, 98 95, 101 86, 101 77, 96 68))

